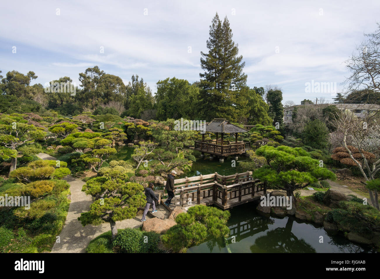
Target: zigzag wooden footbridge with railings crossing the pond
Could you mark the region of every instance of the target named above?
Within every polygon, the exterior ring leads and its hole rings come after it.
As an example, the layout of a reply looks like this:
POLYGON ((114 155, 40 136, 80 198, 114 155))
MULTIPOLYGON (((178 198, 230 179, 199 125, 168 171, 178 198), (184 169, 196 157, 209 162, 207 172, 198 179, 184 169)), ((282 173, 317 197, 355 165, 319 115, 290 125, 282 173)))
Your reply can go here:
MULTIPOLYGON (((175 179, 174 189, 173 206, 186 208, 202 204, 227 209, 260 199, 266 194, 266 183, 252 178, 252 172, 249 171, 228 176, 215 172, 175 179)), ((161 201, 167 198, 168 193, 164 189, 161 201)))

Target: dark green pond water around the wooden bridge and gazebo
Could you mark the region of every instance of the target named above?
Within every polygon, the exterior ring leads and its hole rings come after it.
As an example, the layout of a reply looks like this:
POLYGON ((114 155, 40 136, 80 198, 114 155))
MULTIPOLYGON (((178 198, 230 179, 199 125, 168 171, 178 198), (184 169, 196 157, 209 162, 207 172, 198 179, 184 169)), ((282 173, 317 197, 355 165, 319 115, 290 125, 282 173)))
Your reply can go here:
MULTIPOLYGON (((110 159, 128 160, 132 153, 133 147, 117 148, 117 154, 114 154, 110 159)), ((189 172, 180 175, 178 178, 214 172, 221 175, 231 175, 244 171, 239 168, 238 162, 236 162, 236 167, 231 167, 231 160, 233 159, 233 157, 229 157, 221 163, 216 158, 210 161, 208 156, 204 159, 199 158, 193 162, 193 167, 189 172)), ((244 161, 245 159, 246 157, 241 156, 237 161, 244 161)), ((256 212, 256 205, 257 203, 250 202, 229 210, 231 217, 227 225, 230 228, 230 236, 227 242, 232 253, 375 252, 369 246, 347 240, 342 233, 328 233, 320 225, 301 222, 292 216, 282 219, 266 218, 256 212), (321 236, 323 236, 323 243, 320 242, 321 236)), ((228 253, 228 249, 222 239, 211 238, 187 250, 187 253, 200 252, 228 253)))

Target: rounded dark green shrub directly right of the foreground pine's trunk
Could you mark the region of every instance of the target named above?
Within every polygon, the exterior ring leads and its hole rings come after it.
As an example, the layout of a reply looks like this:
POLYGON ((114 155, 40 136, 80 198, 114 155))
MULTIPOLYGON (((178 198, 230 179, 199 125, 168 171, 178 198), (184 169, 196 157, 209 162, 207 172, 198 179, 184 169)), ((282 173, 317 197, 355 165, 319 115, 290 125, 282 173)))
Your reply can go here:
POLYGON ((112 245, 117 252, 139 253, 142 237, 140 230, 127 228, 117 233, 112 245))

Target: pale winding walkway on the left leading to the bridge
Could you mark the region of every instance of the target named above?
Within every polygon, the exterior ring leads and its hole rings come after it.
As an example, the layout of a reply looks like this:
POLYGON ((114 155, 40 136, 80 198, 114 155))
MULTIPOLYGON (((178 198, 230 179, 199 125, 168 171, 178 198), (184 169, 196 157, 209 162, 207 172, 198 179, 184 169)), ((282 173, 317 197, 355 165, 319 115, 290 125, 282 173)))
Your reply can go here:
MULTIPOLYGON (((37 156, 43 160, 57 160, 48 154, 39 153, 37 156)), ((64 178, 70 184, 71 202, 67 213, 65 225, 63 225, 62 231, 59 234, 60 243, 54 243, 51 250, 52 253, 85 253, 86 247, 95 237, 101 235, 104 232, 111 230, 109 223, 103 223, 98 226, 86 225, 82 226, 78 221, 78 217, 81 213, 90 210, 90 204, 92 203, 92 196, 86 195, 82 192, 82 186, 84 181, 72 177, 71 175, 64 178)), ((125 228, 138 228, 142 225, 140 221, 142 214, 137 215, 133 219, 125 219, 117 221, 118 229, 125 228)), ((146 216, 150 219, 149 216, 146 216)))

